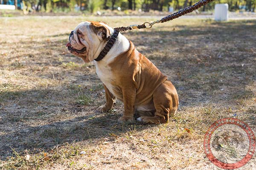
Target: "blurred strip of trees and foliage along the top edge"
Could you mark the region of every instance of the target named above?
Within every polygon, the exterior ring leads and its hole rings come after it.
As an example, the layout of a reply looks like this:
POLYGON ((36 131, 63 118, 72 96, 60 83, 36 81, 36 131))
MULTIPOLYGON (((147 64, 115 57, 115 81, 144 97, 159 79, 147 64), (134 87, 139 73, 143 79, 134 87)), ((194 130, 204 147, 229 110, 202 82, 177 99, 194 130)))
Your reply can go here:
MULTIPOLYGON (((199 0, 23 0, 24 14, 32 10, 31 5, 40 5, 41 11, 46 12, 70 12, 75 11, 75 6, 81 6, 84 12, 94 13, 102 9, 115 9, 121 7, 122 11, 127 14, 127 9, 143 9, 145 5, 149 9, 167 11, 171 6, 175 11, 180 10, 186 6, 190 6, 199 0), (131 8, 132 6, 132 8, 131 8), (69 9, 69 10, 68 10, 69 9)), ((207 6, 199 9, 199 11, 212 11, 216 3, 227 3, 230 11, 240 11, 239 6, 245 6, 244 11, 255 11, 256 0, 216 0, 207 6)))

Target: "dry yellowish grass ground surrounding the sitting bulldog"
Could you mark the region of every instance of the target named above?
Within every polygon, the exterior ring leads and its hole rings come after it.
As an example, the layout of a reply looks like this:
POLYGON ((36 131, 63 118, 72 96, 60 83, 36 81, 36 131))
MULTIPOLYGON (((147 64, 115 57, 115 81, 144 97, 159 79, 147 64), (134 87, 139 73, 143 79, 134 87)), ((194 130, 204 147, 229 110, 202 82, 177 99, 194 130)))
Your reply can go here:
MULTIPOLYGON (((65 48, 84 20, 154 18, 1 19, 0 169, 212 170, 203 139, 215 120, 237 113, 256 131, 256 20, 181 18, 125 33, 177 88, 179 111, 166 125, 118 124, 121 102, 95 112, 105 102, 95 67, 65 48)), ((255 167, 253 156, 240 169, 255 167)))

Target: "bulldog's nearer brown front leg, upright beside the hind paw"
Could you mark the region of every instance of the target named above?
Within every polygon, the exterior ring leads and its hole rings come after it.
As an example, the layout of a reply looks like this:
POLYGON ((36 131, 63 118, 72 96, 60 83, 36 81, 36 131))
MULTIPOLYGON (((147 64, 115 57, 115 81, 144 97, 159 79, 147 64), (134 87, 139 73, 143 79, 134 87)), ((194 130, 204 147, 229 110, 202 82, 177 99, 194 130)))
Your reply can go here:
POLYGON ((118 122, 133 122, 135 112, 136 89, 132 87, 122 88, 123 102, 125 111, 118 122))

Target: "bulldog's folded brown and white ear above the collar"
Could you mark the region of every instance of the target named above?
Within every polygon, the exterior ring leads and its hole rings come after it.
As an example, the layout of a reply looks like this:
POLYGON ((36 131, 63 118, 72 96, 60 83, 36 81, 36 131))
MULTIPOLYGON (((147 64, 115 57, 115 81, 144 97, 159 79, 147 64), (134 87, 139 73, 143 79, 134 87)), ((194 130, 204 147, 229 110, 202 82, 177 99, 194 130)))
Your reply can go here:
POLYGON ((91 26, 93 31, 102 38, 102 40, 108 41, 110 39, 110 31, 109 29, 100 24, 99 22, 91 22, 91 26))

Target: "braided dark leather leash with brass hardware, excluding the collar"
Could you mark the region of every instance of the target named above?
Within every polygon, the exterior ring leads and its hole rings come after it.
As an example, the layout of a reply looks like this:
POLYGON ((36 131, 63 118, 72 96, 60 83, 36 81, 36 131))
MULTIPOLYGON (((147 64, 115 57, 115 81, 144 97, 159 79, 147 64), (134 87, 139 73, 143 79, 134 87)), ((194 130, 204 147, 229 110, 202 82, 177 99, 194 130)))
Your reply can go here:
POLYGON ((165 23, 167 21, 170 21, 170 20, 173 20, 175 18, 181 17, 182 15, 188 14, 188 13, 190 13, 190 12, 200 8, 201 6, 204 6, 207 3, 210 3, 212 1, 214 1, 214 0, 200 0, 192 6, 184 8, 180 11, 177 11, 177 12, 175 12, 173 14, 170 14, 166 17, 163 17, 161 20, 157 20, 157 21, 154 21, 152 23, 145 22, 141 25, 131 25, 131 26, 128 26, 128 27, 117 27, 117 28, 114 28, 114 29, 116 31, 123 32, 123 31, 128 31, 128 30, 133 30, 133 29, 151 28, 156 23, 165 23), (146 26, 146 24, 148 24, 148 26, 146 26))

